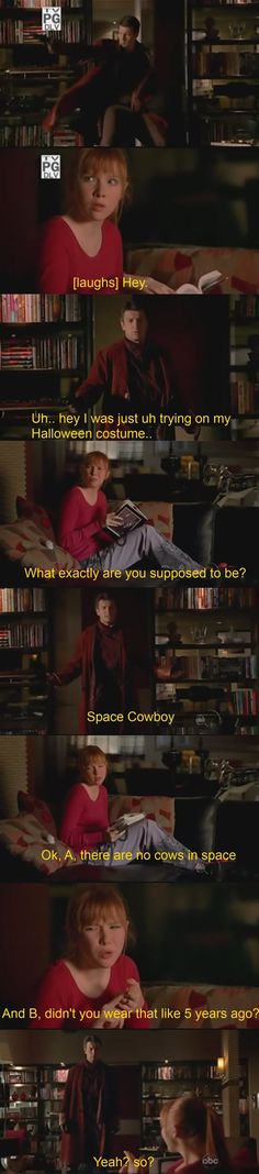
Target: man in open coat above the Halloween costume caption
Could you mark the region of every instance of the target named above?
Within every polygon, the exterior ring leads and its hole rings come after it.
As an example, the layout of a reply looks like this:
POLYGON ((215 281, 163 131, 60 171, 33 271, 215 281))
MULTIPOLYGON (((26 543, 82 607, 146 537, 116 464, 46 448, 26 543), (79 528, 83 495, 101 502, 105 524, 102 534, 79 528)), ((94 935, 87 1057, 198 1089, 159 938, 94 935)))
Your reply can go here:
MULTIPOLYGON (((171 373, 168 356, 152 342, 141 302, 131 298, 121 316, 123 338, 98 351, 87 379, 76 391, 91 407, 103 394, 104 414, 154 412, 172 405, 171 373)), ((150 432, 150 429, 149 429, 150 432)))

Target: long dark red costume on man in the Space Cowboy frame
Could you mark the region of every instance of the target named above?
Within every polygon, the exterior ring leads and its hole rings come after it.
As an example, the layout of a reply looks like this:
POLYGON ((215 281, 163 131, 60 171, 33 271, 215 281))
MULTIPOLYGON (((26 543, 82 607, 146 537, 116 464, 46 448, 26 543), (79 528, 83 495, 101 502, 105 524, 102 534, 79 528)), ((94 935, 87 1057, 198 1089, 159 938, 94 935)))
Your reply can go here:
MULTIPOLYGON (((116 686, 121 697, 122 709, 116 709, 115 713, 123 713, 127 660, 123 635, 120 628, 105 629, 104 625, 97 622, 93 623, 89 628, 84 628, 84 632, 82 632, 82 635, 77 641, 75 655, 59 673, 60 684, 69 684, 69 681, 74 681, 76 676, 82 674, 82 694, 79 718, 80 734, 87 733, 88 710, 94 710, 96 701, 98 701, 100 687, 102 684, 102 659, 104 667, 107 667, 108 675, 110 669, 111 684, 113 676, 116 675, 116 686)), ((100 711, 110 713, 110 709, 108 708, 108 710, 100 711)))

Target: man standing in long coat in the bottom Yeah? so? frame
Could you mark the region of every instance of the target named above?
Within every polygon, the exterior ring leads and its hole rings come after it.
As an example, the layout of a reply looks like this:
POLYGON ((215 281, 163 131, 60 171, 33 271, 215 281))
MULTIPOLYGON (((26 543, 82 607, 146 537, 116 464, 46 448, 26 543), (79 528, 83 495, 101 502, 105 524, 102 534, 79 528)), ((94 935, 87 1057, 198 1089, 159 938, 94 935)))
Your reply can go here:
MULTIPOLYGON (((83 1064, 69 1068, 63 1098, 62 1165, 96 1170, 94 1158, 102 1158, 111 1125, 107 1070, 100 1060, 101 1041, 90 1033, 83 1039, 83 1064)), ((114 1112, 114 1109, 113 1109, 114 1112)))

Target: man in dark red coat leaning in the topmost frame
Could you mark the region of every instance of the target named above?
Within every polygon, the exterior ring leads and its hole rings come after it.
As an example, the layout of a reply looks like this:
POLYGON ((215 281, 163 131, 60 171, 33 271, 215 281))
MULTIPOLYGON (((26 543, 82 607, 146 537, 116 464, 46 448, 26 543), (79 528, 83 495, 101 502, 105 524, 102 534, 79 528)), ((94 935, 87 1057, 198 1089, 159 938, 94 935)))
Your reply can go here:
MULTIPOLYGON (((146 113, 145 122, 139 126, 142 103, 150 82, 154 88, 154 70, 144 46, 137 39, 139 27, 136 16, 122 16, 117 40, 103 38, 93 46, 81 45, 81 53, 86 60, 95 62, 95 68, 61 95, 43 120, 42 126, 46 130, 53 129, 63 115, 80 107, 79 129, 84 134, 87 146, 96 142, 98 136, 100 146, 109 147, 117 141, 117 144, 123 142, 123 146, 130 146, 134 144, 139 130, 144 137, 148 136, 148 142, 151 130, 151 142, 163 146, 163 119, 146 113), (159 133, 162 133, 161 143, 157 141, 159 133)), ((52 42, 47 43, 50 54, 56 55, 52 42)), ((61 50, 70 55, 75 52, 75 46, 67 43, 63 46, 59 42, 59 52, 61 50)))

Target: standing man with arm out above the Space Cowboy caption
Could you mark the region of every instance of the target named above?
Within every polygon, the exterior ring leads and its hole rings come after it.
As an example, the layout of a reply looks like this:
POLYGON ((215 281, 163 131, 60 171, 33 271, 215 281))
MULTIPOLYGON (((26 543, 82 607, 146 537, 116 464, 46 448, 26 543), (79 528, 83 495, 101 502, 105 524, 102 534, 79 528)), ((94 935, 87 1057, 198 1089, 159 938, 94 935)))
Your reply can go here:
POLYGON ((75 655, 60 673, 50 674, 53 684, 69 684, 82 675, 80 734, 87 731, 89 710, 123 714, 125 707, 127 655, 111 595, 100 592, 95 612, 96 622, 82 632, 75 655))

